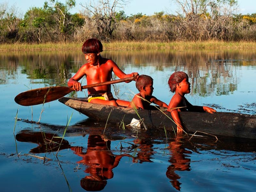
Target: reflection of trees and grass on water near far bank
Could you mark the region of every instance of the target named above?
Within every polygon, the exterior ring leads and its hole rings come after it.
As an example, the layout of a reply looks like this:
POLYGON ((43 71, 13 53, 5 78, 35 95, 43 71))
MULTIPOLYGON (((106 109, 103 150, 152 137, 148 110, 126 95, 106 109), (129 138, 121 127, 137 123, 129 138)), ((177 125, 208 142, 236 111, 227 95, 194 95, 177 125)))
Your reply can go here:
MULTIPOLYGON (((166 75, 168 78, 173 71, 185 71, 190 78, 191 94, 209 96, 228 95, 236 91, 239 77, 234 67, 253 66, 255 68, 255 52, 255 50, 104 51, 102 56, 116 61, 119 67, 126 72, 131 72, 130 68, 153 73, 169 71, 166 75)), ((80 50, 6 53, 0 55, 0 61, 0 69, 7 74, 12 74, 14 79, 21 72, 31 79, 31 83, 49 85, 66 85, 72 73, 76 73, 85 62, 80 50)), ((0 78, 1 81, 6 79, 4 74, 0 78)), ((156 81, 156 78, 153 78, 156 81)))

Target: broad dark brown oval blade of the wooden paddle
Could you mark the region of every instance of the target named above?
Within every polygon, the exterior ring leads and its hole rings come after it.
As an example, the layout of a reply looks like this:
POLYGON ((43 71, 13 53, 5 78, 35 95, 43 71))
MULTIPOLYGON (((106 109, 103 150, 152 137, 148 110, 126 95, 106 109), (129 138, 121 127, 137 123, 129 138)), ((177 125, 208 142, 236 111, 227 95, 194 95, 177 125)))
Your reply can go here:
POLYGON ((23 106, 38 105, 60 99, 72 91, 70 87, 44 87, 22 92, 14 100, 23 106))

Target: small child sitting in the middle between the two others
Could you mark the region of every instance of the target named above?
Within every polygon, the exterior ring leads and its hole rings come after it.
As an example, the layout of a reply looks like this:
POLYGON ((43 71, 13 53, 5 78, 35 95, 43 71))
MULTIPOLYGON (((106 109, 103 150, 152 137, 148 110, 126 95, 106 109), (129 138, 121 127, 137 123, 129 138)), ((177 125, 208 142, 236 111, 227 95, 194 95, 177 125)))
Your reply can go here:
POLYGON ((152 77, 147 75, 140 75, 136 80, 136 88, 139 90, 139 93, 133 97, 128 107, 136 107, 137 109, 141 108, 149 110, 151 103, 155 103, 160 107, 168 107, 166 103, 152 96, 154 90, 152 77))

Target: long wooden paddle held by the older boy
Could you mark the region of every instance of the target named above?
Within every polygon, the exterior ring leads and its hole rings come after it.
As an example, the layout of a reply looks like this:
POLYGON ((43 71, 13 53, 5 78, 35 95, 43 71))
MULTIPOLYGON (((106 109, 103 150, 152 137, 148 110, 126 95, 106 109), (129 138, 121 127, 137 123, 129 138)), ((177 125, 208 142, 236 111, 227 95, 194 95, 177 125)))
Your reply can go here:
MULTIPOLYGON (((106 81, 102 83, 96 83, 96 84, 90 84, 90 85, 84 85, 82 86, 82 89, 88 89, 92 87, 99 87, 102 85, 110 85, 110 84, 116 84, 126 81, 132 81, 135 80, 136 77, 127 77, 124 79, 117 79, 114 81, 106 81)), ((68 93, 74 91, 72 87, 62 87, 62 86, 56 86, 56 87, 44 87, 39 89, 32 89, 29 91, 22 92, 18 94, 14 100, 16 103, 23 105, 23 106, 30 106, 30 105, 38 105, 42 103, 47 103, 53 100, 60 99, 61 97, 64 97, 68 93)))

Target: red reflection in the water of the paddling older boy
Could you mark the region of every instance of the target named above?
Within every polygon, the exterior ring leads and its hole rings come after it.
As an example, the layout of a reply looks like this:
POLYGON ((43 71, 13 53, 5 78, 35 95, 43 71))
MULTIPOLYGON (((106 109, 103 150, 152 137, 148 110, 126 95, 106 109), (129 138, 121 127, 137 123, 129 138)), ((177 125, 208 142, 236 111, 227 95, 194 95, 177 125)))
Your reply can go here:
POLYGON ((90 175, 85 176, 80 185, 87 191, 100 191, 106 184, 107 180, 113 178, 112 171, 124 155, 114 155, 110 151, 110 140, 105 140, 101 135, 89 135, 87 151, 83 152, 82 147, 72 147, 71 149, 83 159, 78 164, 85 164, 87 168, 84 172, 90 175))

